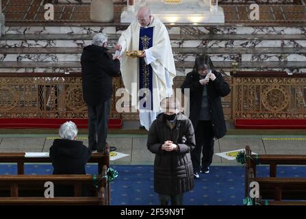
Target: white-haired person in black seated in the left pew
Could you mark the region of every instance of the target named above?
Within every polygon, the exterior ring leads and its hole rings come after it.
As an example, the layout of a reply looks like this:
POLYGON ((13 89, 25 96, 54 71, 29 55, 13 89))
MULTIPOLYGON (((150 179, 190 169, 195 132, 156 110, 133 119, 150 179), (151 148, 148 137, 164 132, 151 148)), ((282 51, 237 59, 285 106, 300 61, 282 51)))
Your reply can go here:
MULTIPOLYGON (((50 148, 50 158, 53 165, 53 175, 86 174, 85 166, 90 159, 91 151, 83 142, 77 141, 77 126, 68 121, 60 126, 60 139, 55 139, 50 148)), ((89 192, 83 188, 83 195, 89 192)), ((71 185, 55 186, 55 196, 74 196, 71 185)))

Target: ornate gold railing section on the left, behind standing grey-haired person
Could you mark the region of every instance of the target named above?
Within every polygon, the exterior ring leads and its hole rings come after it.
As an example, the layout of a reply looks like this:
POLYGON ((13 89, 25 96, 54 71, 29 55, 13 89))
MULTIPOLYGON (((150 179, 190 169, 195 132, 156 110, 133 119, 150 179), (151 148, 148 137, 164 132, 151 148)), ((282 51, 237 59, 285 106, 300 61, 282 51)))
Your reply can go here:
MULTIPOLYGON (((110 118, 120 118, 115 106, 113 95, 110 118)), ((0 73, 0 118, 87 118, 81 73, 0 73)))

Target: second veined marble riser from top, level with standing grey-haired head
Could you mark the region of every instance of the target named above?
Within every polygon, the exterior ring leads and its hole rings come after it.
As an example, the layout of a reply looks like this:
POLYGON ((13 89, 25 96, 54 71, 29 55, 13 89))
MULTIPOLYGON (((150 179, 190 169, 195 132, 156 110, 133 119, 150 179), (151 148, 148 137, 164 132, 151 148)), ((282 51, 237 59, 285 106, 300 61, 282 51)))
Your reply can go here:
MULTIPOLYGON (((92 40, 0 40, 0 48, 51 48, 51 47, 86 47, 92 40)), ((110 40, 109 46, 114 47, 117 40, 110 40)), ((305 40, 171 40, 173 48, 263 48, 263 47, 306 47, 305 40)))

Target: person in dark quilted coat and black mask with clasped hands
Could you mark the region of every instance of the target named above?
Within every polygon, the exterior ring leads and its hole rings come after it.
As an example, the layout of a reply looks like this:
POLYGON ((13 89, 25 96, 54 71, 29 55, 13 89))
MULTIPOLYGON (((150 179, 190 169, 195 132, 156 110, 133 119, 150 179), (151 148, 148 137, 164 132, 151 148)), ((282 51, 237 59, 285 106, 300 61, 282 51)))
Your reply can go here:
POLYGON ((190 151, 194 149, 194 130, 191 121, 179 113, 174 98, 162 100, 164 113, 159 114, 149 130, 146 146, 155 153, 154 191, 160 205, 182 205, 183 192, 194 187, 190 151))

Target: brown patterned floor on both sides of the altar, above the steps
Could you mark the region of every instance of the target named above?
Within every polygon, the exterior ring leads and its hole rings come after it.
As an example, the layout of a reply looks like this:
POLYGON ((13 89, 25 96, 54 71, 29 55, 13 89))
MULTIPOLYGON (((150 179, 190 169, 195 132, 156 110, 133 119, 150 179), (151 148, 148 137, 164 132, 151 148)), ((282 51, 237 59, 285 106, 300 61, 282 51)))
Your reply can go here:
MULTIPOLYGON (((48 0, 2 0, 6 22, 49 22, 44 20, 44 4, 48 0)), ((125 4, 115 4, 114 23, 120 23, 120 11, 125 4)), ((225 11, 226 23, 306 23, 305 0, 294 3, 262 3, 259 21, 251 21, 249 3, 220 4, 225 11)), ((58 3, 54 7, 55 22, 90 22, 90 5, 58 3)))

